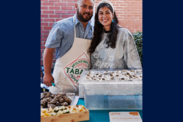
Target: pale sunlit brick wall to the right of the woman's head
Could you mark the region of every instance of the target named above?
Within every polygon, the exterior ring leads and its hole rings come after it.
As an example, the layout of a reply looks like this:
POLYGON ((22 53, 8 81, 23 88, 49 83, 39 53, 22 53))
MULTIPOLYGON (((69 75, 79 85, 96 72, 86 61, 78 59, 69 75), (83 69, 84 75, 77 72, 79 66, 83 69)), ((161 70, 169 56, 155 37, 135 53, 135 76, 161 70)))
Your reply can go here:
MULTIPOLYGON (((101 0, 96 0, 95 6, 101 0)), ((116 11, 119 25, 132 33, 142 31, 142 0, 109 0, 116 11)))

